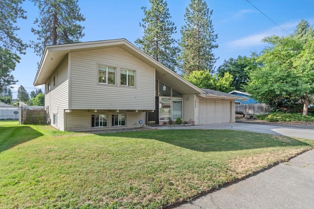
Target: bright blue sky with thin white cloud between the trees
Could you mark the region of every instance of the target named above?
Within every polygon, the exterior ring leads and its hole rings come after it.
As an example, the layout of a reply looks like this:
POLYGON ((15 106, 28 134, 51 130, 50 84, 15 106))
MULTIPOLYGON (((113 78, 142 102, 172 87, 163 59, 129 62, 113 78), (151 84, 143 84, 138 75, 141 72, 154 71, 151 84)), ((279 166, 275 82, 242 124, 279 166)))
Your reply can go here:
MULTIPOLYGON (((267 19, 247 0, 206 0, 215 33, 218 33, 217 44, 213 50, 215 57, 219 57, 216 67, 224 60, 238 55, 250 56, 252 51, 260 52, 265 44, 262 38, 271 35, 286 36, 276 24, 267 19)), ((185 8, 190 0, 167 0, 171 20, 177 26, 174 38, 180 39, 181 26, 184 24, 185 8)), ((258 9, 289 33, 293 33, 297 23, 304 19, 314 24, 313 0, 250 0, 258 9)), ((78 0, 81 13, 85 17, 85 36, 82 42, 100 41, 125 38, 134 44, 137 38, 143 36, 143 28, 139 26, 144 12, 142 6, 150 7, 149 0, 78 0)), ((31 27, 38 16, 37 7, 26 0, 23 4, 27 11, 27 20, 18 20, 21 28, 18 36, 25 42, 35 41, 36 36, 31 33, 31 27)), ((28 48, 26 55, 21 55, 21 62, 17 64, 13 75, 19 82, 12 90, 16 98, 17 88, 23 85, 27 92, 35 91, 41 86, 34 87, 33 81, 37 72, 37 63, 41 57, 36 56, 33 49, 28 48)), ((44 90, 44 89, 42 89, 44 90)))

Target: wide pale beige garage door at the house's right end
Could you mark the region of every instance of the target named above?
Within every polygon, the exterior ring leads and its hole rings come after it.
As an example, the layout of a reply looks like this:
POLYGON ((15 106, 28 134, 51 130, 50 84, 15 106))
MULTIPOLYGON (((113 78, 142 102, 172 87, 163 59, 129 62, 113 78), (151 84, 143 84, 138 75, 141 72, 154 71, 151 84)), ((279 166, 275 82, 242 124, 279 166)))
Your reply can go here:
POLYGON ((199 124, 230 123, 230 101, 200 100, 199 124))

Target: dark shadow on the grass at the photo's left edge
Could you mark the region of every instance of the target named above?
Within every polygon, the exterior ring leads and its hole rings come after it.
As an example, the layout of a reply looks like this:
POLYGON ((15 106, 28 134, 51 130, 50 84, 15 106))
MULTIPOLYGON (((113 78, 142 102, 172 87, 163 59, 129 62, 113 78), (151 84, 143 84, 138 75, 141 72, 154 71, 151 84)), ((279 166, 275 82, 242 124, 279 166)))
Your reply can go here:
POLYGON ((29 126, 0 126, 0 152, 41 136, 29 126))

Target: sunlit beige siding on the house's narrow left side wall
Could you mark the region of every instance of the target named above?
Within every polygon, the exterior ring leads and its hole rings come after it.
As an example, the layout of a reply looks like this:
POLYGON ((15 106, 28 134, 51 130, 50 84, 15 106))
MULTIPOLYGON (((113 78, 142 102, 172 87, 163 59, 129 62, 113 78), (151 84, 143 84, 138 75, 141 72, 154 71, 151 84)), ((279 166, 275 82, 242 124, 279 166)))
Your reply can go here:
POLYGON ((46 83, 45 106, 51 125, 64 131, 64 110, 68 109, 68 59, 65 58, 61 65, 52 73, 46 83), (53 77, 55 86, 53 87, 53 77), (48 92, 47 85, 50 82, 51 91, 48 92), (53 114, 57 114, 57 124, 53 124, 53 114))

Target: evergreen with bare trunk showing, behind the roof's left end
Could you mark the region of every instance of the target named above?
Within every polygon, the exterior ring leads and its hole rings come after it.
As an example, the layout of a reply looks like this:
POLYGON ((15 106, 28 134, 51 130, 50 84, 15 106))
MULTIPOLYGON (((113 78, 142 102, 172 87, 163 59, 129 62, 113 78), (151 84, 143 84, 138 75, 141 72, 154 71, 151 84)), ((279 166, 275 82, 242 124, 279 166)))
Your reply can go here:
POLYGON ((34 22, 38 29, 31 29, 39 41, 31 41, 37 55, 41 56, 47 45, 77 43, 84 36, 84 27, 78 24, 85 21, 79 13, 78 0, 31 1, 39 8, 40 20, 36 18, 34 22))

